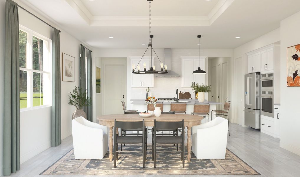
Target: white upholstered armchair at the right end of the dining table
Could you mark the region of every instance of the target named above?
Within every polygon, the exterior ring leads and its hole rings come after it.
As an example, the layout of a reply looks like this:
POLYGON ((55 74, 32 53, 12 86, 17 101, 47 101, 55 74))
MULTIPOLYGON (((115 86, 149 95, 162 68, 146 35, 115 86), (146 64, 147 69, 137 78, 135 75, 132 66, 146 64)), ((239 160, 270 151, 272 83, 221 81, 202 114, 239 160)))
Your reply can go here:
POLYGON ((192 127, 192 151, 197 159, 224 159, 228 120, 217 117, 192 127))

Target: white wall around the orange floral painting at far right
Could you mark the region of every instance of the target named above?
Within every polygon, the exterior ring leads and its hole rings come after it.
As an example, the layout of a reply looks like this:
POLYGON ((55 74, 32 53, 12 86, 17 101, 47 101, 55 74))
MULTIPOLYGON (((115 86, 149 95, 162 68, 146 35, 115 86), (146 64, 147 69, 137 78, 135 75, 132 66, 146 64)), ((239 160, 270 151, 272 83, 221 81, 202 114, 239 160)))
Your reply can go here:
POLYGON ((300 43, 300 12, 280 23, 280 147, 300 155, 299 87, 286 87, 286 48, 300 43))

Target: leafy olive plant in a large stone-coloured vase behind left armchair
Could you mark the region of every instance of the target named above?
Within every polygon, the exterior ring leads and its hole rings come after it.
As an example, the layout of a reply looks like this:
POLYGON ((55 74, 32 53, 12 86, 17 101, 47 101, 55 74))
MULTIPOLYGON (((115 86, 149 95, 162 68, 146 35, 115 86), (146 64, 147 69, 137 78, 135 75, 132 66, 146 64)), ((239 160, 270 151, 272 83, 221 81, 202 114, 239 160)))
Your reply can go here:
POLYGON ((91 98, 86 96, 86 93, 82 90, 82 88, 75 86, 73 93, 70 92, 69 104, 76 107, 76 110, 72 115, 72 119, 80 116, 86 119, 86 113, 83 111, 83 107, 91 105, 91 98))

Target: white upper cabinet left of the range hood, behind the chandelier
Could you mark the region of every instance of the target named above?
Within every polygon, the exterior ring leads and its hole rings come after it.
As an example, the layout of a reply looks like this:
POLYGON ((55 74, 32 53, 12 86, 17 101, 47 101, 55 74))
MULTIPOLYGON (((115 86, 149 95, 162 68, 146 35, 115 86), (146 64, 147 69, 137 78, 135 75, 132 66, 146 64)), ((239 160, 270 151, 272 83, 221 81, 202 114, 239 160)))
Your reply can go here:
MULTIPOLYGON (((130 57, 130 68, 132 71, 132 64, 135 64, 137 67, 141 57, 130 57)), ((153 61, 154 57, 152 57, 153 61)), ((149 57, 143 57, 140 61, 140 70, 144 70, 144 62, 146 63, 146 70, 149 70, 149 57)), ((136 69, 137 71, 137 69, 136 69)), ((154 75, 153 74, 133 74, 131 73, 130 80, 131 87, 154 87, 154 75)))

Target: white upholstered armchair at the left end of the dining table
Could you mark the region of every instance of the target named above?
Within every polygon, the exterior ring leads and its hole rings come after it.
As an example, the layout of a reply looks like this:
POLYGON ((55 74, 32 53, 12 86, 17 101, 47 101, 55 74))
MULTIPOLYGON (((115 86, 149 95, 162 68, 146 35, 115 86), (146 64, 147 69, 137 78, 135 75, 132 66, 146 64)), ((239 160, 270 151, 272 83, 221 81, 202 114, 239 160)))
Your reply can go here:
POLYGON ((75 159, 102 159, 107 153, 107 127, 77 117, 72 120, 75 159))

